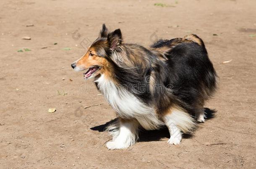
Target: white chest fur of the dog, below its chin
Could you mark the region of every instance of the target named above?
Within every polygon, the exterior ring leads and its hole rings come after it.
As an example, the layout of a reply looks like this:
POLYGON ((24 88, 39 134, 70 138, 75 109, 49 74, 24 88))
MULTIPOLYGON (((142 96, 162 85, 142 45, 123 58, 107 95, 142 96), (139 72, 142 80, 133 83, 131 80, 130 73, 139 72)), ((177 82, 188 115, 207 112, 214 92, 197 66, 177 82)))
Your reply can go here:
POLYGON ((101 75, 95 82, 104 94, 107 102, 125 119, 135 118, 145 129, 157 129, 161 122, 158 120, 153 108, 146 106, 133 94, 122 88, 117 88, 112 81, 104 79, 101 75))

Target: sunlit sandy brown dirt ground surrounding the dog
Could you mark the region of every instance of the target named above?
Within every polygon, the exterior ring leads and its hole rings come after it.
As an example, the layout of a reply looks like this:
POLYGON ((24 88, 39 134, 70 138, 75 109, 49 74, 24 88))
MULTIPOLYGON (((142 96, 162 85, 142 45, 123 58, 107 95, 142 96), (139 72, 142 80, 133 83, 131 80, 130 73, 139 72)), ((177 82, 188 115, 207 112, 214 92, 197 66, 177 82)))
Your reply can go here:
POLYGON ((0 168, 256 168, 255 7, 255 0, 1 0, 0 168), (206 104, 216 117, 179 146, 168 145, 162 129, 107 150, 104 127, 115 113, 70 66, 102 23, 144 46, 199 35, 219 75, 206 104))

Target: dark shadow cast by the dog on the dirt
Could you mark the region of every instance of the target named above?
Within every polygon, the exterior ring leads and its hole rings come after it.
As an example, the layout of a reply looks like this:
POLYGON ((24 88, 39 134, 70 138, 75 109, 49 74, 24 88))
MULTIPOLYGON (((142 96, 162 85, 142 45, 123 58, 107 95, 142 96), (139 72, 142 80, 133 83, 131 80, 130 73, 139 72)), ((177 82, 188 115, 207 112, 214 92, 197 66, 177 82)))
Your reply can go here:
MULTIPOLYGON (((204 108, 204 111, 206 113, 206 120, 209 120, 215 117, 215 113, 216 113, 215 110, 204 108)), ((106 130, 107 126, 109 126, 110 124, 114 123, 117 120, 118 119, 116 118, 111 121, 108 121, 105 124, 94 126, 91 128, 91 130, 103 132, 106 130)), ((192 134, 183 134, 183 138, 191 138, 191 137, 193 137, 192 134)), ((139 138, 139 141, 159 141, 163 138, 170 138, 170 133, 167 127, 163 127, 159 130, 150 130, 150 131, 141 129, 139 132, 138 138, 139 138)))

